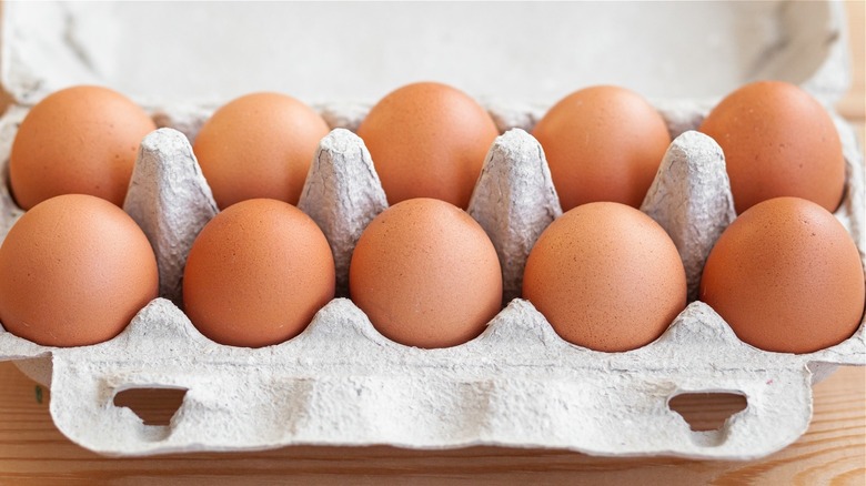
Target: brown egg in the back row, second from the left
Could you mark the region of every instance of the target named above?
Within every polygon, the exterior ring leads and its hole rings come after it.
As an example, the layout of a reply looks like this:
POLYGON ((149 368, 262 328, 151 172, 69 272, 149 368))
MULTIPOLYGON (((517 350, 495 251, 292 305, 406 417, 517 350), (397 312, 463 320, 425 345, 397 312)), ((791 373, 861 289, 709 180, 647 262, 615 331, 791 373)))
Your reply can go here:
POLYGON ((328 124, 313 109, 279 93, 253 93, 216 110, 193 152, 220 209, 248 199, 298 204, 328 124))

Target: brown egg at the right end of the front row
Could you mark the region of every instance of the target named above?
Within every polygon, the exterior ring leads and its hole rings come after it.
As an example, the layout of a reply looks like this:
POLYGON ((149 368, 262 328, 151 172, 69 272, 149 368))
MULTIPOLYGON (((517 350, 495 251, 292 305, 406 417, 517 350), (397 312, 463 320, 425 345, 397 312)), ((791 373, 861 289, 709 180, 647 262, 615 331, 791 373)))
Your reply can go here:
POLYGON ((779 353, 838 344, 863 318, 863 263, 822 206, 777 198, 739 215, 704 266, 701 300, 744 342, 779 353))

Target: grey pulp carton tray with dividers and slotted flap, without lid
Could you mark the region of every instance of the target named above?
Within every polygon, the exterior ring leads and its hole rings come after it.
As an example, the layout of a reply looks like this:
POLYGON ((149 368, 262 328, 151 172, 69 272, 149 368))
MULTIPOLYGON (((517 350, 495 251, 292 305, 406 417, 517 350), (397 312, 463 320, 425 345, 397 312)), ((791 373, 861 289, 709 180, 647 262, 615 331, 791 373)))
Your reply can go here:
MULTIPOLYGON (((2 154, 24 112, 4 119, 2 154)), ((839 123, 839 132, 847 186, 836 215, 863 256, 863 160, 850 129, 839 123)), ((9 227, 21 211, 6 180, 0 183, 9 227)), ((363 141, 334 129, 320 143, 299 207, 328 236, 339 295, 346 295, 358 237, 386 206, 363 141)), ((806 431, 816 374, 866 364, 863 323, 827 350, 769 353, 742 343, 701 302, 635 351, 602 353, 563 341, 518 298, 532 245, 562 213, 542 148, 520 128, 492 144, 467 210, 496 247, 508 303, 481 336, 451 348, 391 342, 344 297, 282 344, 240 348, 204 337, 174 302, 181 302, 185 255, 216 205, 187 135, 177 130, 163 128, 143 140, 124 210, 154 247, 160 298, 119 336, 92 346, 46 347, 0 332, 0 360, 16 360, 49 383, 58 428, 102 454, 391 444, 746 459, 783 448, 806 431), (114 405, 117 394, 130 388, 187 393, 170 424, 154 426, 114 405), (668 407, 679 394, 717 392, 742 394, 748 403, 718 431, 694 432, 668 407)), ((696 131, 676 136, 642 211, 676 243, 694 296, 709 250, 735 216, 721 148, 696 131)))

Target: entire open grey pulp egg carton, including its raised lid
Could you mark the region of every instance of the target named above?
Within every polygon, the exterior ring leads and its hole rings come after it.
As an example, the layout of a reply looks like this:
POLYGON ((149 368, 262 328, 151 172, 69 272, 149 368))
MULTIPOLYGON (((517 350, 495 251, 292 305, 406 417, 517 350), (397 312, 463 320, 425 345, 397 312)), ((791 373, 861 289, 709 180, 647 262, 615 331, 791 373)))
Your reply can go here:
MULTIPOLYGON (((143 141, 124 204, 158 255, 161 297, 119 336, 92 346, 39 346, 0 328, 0 361, 14 361, 51 387, 56 425, 87 448, 149 455, 293 444, 503 445, 748 459, 805 432, 812 383, 837 365, 866 364, 863 323, 827 350, 769 353, 739 342, 712 308, 692 302, 654 343, 601 353, 564 342, 531 303, 512 298, 520 294, 528 250, 561 214, 543 152, 527 133, 550 100, 598 83, 598 75, 656 97, 674 141, 642 210, 676 243, 694 296, 708 249, 734 214, 721 150, 693 130, 718 93, 747 79, 794 80, 825 104, 838 99, 850 78, 839 1, 544 9, 474 3, 462 4, 460 14, 423 3, 389 4, 385 12, 361 2, 340 9, 208 4, 208 14, 201 4, 179 3, 6 2, 2 8, 0 74, 16 105, 0 119, 0 237, 21 215, 7 186, 11 142, 29 107, 46 94, 70 84, 108 84, 153 109, 158 125, 167 128, 143 141), (425 21, 414 21, 419 16, 425 21), (285 29, 286 19, 296 17, 305 20, 285 29), (326 22, 312 21, 322 19, 326 22), (562 19, 568 19, 568 28, 554 28, 562 19), (369 36, 356 36, 359 23, 369 36), (675 28, 659 30, 659 24, 675 28), (187 33, 180 37, 187 44, 167 49, 167 32, 187 33), (482 41, 455 42, 466 34, 482 41), (391 42, 395 38, 401 42, 391 42), (315 41, 316 49, 298 39, 315 41), (387 45, 389 59, 400 62, 364 69, 367 60, 355 53, 379 52, 371 42, 387 45), (271 47, 278 45, 284 62, 275 64, 271 47), (484 45, 496 45, 496 55, 505 57, 492 59, 484 45), (600 57, 574 45, 602 45, 614 54, 600 57), (210 62, 214 58, 219 62, 210 62), (435 65, 427 59, 436 59, 435 65), (491 79, 486 74, 502 73, 480 68, 491 60, 515 69, 491 79), (687 69, 698 63, 701 69, 687 69), (145 65, 148 75, 133 69, 138 65, 145 65), (292 65, 315 75, 298 75, 292 65), (216 212, 189 145, 213 108, 228 94, 261 89, 308 101, 334 92, 371 99, 429 77, 482 99, 503 133, 491 146, 469 207, 494 242, 507 303, 484 333, 446 350, 403 346, 379 334, 344 298, 354 242, 386 201, 370 154, 352 133, 370 103, 326 102, 316 109, 334 131, 322 140, 299 206, 329 239, 341 296, 301 335, 280 345, 239 348, 201 335, 177 303, 185 254, 216 212), (162 79, 170 83, 158 82, 162 79), (144 425, 114 405, 125 389, 159 387, 187 391, 169 425, 144 425), (668 403, 703 392, 738 393, 748 406, 718 431, 694 432, 668 403)), ((847 189, 836 216, 866 260, 862 152, 850 128, 838 120, 837 125, 847 189)))

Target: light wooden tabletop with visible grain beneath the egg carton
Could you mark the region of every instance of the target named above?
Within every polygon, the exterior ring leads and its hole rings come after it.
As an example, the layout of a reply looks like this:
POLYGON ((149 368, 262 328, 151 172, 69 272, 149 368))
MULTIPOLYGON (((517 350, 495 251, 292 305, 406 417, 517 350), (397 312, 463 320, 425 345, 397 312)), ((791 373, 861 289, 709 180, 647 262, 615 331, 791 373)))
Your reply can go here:
MULTIPOLYGON (((864 140, 863 1, 847 2, 854 80, 838 104, 864 140)), ((0 363, 0 486, 49 484, 833 484, 866 485, 866 369, 839 368, 814 387, 814 416, 795 444, 754 462, 668 457, 600 458, 500 447, 406 450, 374 447, 285 447, 256 453, 107 458, 63 437, 51 422, 50 394, 11 363, 0 363)), ((118 401, 145 422, 164 422, 180 397, 130 395, 118 401)), ((743 406, 729 396, 679 404, 696 429, 713 428, 743 406)))

